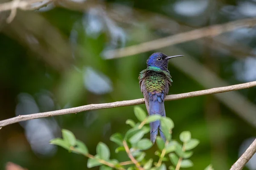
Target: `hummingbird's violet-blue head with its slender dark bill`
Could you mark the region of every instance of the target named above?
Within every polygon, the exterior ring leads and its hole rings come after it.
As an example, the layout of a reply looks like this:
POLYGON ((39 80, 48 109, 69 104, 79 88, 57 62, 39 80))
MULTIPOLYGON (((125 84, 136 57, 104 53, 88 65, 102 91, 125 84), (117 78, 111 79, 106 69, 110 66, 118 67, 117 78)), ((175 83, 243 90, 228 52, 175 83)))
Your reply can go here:
POLYGON ((160 68, 161 70, 168 70, 168 62, 169 59, 174 58, 174 57, 181 57, 181 56, 170 56, 168 57, 166 54, 163 54, 161 52, 157 52, 152 54, 148 60, 147 60, 147 65, 152 66, 152 67, 157 67, 160 68))

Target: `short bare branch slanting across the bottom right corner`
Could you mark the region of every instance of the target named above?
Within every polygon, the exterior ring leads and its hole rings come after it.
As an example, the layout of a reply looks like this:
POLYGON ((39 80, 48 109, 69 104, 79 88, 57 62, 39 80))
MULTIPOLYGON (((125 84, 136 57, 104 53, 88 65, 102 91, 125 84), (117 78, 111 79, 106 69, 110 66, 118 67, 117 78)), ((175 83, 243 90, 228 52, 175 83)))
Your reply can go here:
POLYGON ((256 139, 252 144, 245 150, 244 154, 233 164, 230 170, 242 170, 245 164, 253 157, 256 153, 256 139))

